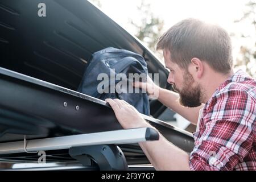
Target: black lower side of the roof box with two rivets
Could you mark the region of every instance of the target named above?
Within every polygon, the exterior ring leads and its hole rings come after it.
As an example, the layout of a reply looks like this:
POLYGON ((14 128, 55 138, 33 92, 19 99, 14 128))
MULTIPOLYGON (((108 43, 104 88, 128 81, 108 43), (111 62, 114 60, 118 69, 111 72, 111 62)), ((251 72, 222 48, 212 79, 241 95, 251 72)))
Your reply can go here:
POLYGON ((21 134, 19 138, 0 138, 0 142, 22 140, 22 135, 34 135, 32 138, 57 137, 65 133, 70 135, 122 129, 113 110, 97 104, 100 100, 96 98, 92 99, 93 102, 81 98, 82 94, 81 97, 74 97, 70 90, 60 92, 1 73, 0 85, 0 133, 21 134), (67 106, 64 106, 64 102, 67 106), (76 106, 79 106, 79 110, 76 106))

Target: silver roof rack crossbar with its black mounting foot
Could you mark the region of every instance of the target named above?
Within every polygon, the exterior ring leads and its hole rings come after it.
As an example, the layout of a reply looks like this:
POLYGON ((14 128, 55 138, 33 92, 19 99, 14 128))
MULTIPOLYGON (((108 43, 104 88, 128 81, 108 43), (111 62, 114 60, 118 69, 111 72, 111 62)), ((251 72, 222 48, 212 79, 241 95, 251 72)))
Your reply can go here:
POLYGON ((83 166, 97 166, 100 170, 127 170, 125 156, 116 145, 158 139, 158 131, 146 127, 7 142, 0 143, 0 160, 5 154, 69 149, 69 155, 83 166))

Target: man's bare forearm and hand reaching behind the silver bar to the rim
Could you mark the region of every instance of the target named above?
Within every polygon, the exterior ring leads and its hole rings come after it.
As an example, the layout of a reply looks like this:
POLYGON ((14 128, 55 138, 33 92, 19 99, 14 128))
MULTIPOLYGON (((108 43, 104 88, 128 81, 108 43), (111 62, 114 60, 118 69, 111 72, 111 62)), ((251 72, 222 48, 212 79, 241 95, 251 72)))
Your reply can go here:
MULTIPOLYGON (((124 129, 152 127, 125 101, 106 99, 124 129)), ((158 170, 189 170, 189 155, 160 135, 154 142, 139 143, 151 164, 158 170)))

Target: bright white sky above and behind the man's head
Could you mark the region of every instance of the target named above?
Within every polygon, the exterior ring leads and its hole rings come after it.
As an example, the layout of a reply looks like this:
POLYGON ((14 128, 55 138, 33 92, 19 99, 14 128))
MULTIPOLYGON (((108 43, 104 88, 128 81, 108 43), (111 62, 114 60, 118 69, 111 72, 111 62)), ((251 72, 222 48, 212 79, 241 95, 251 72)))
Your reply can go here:
MULTIPOLYGON (((136 32, 129 21, 139 19, 137 6, 140 2, 101 0, 101 10, 134 35, 136 32)), ((164 31, 185 18, 198 18, 224 27, 230 35, 235 35, 232 36, 234 60, 242 45, 254 47, 256 35, 250 22, 234 23, 234 20, 242 18, 249 0, 145 0, 145 2, 151 4, 154 15, 164 20, 164 31), (241 39, 241 34, 250 35, 251 39, 241 39)))

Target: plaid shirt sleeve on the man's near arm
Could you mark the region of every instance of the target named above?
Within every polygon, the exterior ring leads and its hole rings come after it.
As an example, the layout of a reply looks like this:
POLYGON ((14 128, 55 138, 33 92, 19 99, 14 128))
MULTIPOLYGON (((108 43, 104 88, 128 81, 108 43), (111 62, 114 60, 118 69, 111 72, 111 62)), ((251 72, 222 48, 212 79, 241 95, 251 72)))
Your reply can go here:
POLYGON ((226 90, 211 102, 189 166, 191 170, 233 170, 253 145, 255 101, 246 92, 226 90))

